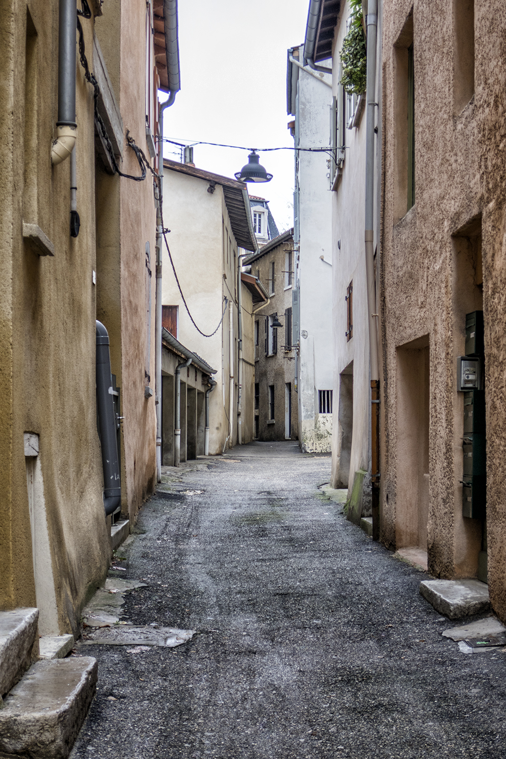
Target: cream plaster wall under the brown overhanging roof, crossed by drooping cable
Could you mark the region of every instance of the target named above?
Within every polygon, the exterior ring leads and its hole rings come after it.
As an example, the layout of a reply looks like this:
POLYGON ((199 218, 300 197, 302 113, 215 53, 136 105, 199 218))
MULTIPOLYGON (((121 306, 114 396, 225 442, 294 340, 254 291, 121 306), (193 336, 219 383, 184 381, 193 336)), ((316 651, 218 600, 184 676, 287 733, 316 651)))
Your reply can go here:
MULTIPOLYGON (((168 244, 174 261, 181 289, 196 325, 206 334, 218 327, 225 307, 224 298, 233 303, 232 320, 228 307, 221 326, 212 337, 203 337, 188 317, 174 279, 167 250, 163 250, 162 302, 179 306, 178 340, 190 351, 195 351, 217 373, 218 383, 209 402, 209 454, 222 453, 224 446, 237 443, 237 243, 231 231, 231 223, 221 185, 216 184, 213 193, 207 191, 209 182, 196 177, 179 174, 165 168, 164 172, 164 221, 171 229, 168 244), (227 261, 227 245, 230 248, 227 261), (229 331, 233 332, 234 369, 234 419, 229 435, 230 396, 230 348, 229 331)), ((244 305, 247 304, 244 300, 244 305)), ((252 341, 247 330, 253 329, 251 321, 244 319, 244 340, 252 341)), ((245 381, 250 381, 247 373, 245 381)), ((252 393, 245 393, 245 404, 250 404, 252 393)), ((243 405, 243 413, 248 414, 243 405)), ((253 414, 250 407, 250 414, 253 414)), ((243 433, 244 439, 244 433, 243 433)))

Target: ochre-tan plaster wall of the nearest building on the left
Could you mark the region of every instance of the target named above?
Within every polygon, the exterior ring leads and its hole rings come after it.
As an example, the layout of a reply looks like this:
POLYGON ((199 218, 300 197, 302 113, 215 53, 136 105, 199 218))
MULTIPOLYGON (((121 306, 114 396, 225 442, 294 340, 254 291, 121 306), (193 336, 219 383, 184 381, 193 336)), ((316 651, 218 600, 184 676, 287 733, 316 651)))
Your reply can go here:
MULTIPOLYGON (((4 3, 0 210, 2 426, 0 608, 34 606, 24 432, 39 435, 60 631, 78 629, 80 607, 107 570, 110 543, 96 433, 94 143, 90 91, 77 75, 77 175, 81 231, 69 237, 70 162, 54 168, 58 8, 29 2, 36 31, 36 87, 25 93, 27 5, 4 3), (25 133, 33 124, 36 139, 25 133), (39 257, 22 238, 36 223, 55 245, 39 257)), ((84 27, 91 49, 93 22, 84 27)), ((33 85, 33 80, 29 79, 33 85)))

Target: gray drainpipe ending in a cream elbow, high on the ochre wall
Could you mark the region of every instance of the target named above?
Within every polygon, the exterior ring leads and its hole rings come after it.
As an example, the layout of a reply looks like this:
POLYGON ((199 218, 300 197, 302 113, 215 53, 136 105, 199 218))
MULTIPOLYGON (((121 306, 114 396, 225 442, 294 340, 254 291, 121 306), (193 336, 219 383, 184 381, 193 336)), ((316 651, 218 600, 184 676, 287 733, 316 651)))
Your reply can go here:
POLYGON ((60 0, 58 20, 58 121, 52 144, 55 166, 71 155, 76 143, 76 0, 60 0))

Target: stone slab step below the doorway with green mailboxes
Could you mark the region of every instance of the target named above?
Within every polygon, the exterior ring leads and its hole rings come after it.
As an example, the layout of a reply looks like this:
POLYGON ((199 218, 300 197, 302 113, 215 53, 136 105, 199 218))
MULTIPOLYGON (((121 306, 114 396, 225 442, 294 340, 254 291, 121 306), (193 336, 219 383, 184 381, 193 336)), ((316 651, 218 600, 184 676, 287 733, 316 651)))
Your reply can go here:
POLYGON ((489 587, 479 580, 424 580, 420 593, 449 619, 482 614, 490 609, 489 587))

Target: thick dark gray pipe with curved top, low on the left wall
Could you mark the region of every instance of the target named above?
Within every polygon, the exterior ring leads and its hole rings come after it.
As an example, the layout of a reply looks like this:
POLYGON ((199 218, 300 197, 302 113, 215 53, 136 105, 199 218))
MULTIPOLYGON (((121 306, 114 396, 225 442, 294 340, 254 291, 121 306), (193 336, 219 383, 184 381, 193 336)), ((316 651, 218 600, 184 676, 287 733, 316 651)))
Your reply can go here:
POLYGON ((99 413, 99 438, 104 471, 105 516, 121 505, 121 477, 118 445, 116 442, 116 415, 112 396, 111 358, 109 335, 105 326, 96 323, 96 407, 99 413))

